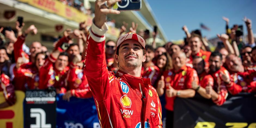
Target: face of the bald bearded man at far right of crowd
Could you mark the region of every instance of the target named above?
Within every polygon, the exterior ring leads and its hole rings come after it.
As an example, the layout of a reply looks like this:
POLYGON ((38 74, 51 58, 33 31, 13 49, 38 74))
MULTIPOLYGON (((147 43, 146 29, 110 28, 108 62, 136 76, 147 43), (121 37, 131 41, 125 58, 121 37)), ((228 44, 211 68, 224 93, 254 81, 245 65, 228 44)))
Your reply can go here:
POLYGON ((240 61, 240 58, 238 58, 235 55, 230 55, 226 59, 226 64, 228 66, 228 69, 233 72, 238 72, 239 68, 241 68, 242 62, 240 61))

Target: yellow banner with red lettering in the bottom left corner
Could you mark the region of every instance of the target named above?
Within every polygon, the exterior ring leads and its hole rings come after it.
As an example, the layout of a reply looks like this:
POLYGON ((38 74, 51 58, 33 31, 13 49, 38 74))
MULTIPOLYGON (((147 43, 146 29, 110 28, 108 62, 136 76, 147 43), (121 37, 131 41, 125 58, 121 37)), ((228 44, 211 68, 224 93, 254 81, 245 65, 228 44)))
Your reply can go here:
MULTIPOLYGON (((0 91, 0 103, 5 102, 3 92, 0 91)), ((23 119, 23 100, 25 93, 15 91, 17 101, 13 106, 0 109, 0 126, 1 128, 21 128, 24 126, 23 119)))

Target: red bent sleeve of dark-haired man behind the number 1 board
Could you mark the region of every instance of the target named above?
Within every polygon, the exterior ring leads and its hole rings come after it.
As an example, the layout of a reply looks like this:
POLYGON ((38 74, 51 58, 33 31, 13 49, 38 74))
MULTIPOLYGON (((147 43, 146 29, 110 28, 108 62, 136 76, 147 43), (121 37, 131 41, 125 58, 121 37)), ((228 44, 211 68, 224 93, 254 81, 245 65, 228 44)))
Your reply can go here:
POLYGON ((54 58, 53 56, 49 56, 45 62, 44 65, 40 68, 40 72, 39 72, 39 89, 46 89, 47 88, 47 83, 48 80, 51 76, 51 74, 49 74, 49 71, 51 68, 53 68, 53 63, 56 62, 56 58, 54 58))

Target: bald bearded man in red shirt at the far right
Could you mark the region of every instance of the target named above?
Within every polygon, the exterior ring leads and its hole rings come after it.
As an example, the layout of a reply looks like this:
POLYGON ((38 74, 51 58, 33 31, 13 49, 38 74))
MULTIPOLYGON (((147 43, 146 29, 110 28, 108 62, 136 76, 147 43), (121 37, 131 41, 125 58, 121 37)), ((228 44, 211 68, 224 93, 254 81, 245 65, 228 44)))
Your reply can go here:
POLYGON ((251 85, 253 78, 250 77, 249 72, 250 74, 253 73, 251 71, 244 72, 241 59, 234 54, 229 54, 226 57, 226 65, 233 82, 233 86, 228 87, 228 91, 232 95, 236 95, 239 92, 252 92, 255 86, 251 85))

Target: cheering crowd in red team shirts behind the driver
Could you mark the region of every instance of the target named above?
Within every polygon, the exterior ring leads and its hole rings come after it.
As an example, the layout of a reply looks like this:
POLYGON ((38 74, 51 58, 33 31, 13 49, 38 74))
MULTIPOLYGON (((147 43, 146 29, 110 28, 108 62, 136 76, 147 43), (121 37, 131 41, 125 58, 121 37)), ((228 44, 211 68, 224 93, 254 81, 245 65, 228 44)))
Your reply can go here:
MULTIPOLYGON (((248 43, 241 40, 238 25, 229 28, 228 18, 226 33, 217 35, 222 41, 215 51, 209 48, 209 42, 202 38, 200 30, 188 31, 183 26, 186 38, 184 45, 167 42, 164 46, 145 45, 145 62, 141 76, 150 78, 157 94, 165 94, 166 127, 171 127, 175 97, 190 98, 199 93, 206 99, 212 99, 216 105, 223 105, 228 94, 256 92, 256 47, 252 32, 252 22, 244 19, 248 31, 248 43)), ((34 25, 23 29, 16 22, 14 33, 1 28, 0 71, 1 88, 6 102, 0 108, 16 102, 14 90, 47 89, 54 87, 57 93, 65 93, 64 100, 72 96, 91 98, 93 96, 84 73, 88 37, 87 27, 80 23, 76 30, 66 29, 62 38, 54 42, 51 53, 40 42, 32 42, 29 50, 25 45, 28 34, 36 34, 34 25), (74 42, 76 39, 77 42, 74 42)), ((125 23, 120 36, 127 33, 125 23)), ((133 23, 130 31, 136 33, 138 25, 133 23)), ((144 31, 138 34, 145 40, 144 31)), ((153 32, 156 38, 157 33, 153 32)), ((100 38, 100 37, 99 37, 100 38)), ((118 51, 116 41, 105 42, 105 59, 108 71, 117 73, 119 63, 115 59, 118 51)), ((94 60, 95 61, 95 60, 94 60)), ((100 61, 100 60, 99 60, 100 61)), ((96 72, 96 71, 95 71, 96 72)), ((91 72, 93 74, 93 72, 91 72)))

